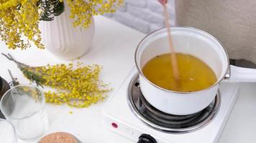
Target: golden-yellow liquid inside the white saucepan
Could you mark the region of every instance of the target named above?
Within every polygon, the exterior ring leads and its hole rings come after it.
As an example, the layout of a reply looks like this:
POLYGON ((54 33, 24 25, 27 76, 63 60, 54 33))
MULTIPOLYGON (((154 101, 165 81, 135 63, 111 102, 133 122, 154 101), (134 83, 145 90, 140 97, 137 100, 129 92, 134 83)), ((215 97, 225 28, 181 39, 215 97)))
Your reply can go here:
POLYGON ((145 64, 142 69, 145 77, 158 87, 175 92, 196 92, 217 81, 214 71, 190 54, 175 53, 178 64, 179 77, 173 77, 170 53, 156 56, 145 64))

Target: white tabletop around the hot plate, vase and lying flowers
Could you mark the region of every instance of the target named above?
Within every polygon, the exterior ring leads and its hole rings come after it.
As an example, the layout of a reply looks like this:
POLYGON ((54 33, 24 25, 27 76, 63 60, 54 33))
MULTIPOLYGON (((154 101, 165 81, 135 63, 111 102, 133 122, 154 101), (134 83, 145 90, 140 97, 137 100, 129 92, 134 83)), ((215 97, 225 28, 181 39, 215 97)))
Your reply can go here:
MULTIPOLYGON (((96 16, 96 36, 93 47, 81 57, 85 64, 100 64, 104 66, 101 79, 111 83, 116 89, 124 80, 129 70, 134 66, 134 50, 145 34, 106 19, 96 16)), ((32 47, 27 50, 9 50, 3 42, 0 42, 0 52, 10 53, 14 58, 32 66, 46 64, 69 63, 52 56, 46 49, 40 50, 32 47)), ((0 55, 0 76, 10 81, 7 69, 11 69, 14 77, 22 84, 29 81, 25 79, 17 66, 0 55)), ((242 84, 241 93, 234 106, 227 126, 219 142, 238 143, 256 141, 256 84, 242 84)), ((109 97, 113 92, 109 92, 109 97)), ((101 124, 104 102, 94 104, 86 109, 74 109, 68 106, 56 106, 47 104, 47 115, 51 132, 69 132, 74 134, 83 143, 132 143, 119 134, 105 129, 101 124), (73 114, 69 114, 69 112, 73 114)), ((1 142, 1 141, 0 141, 1 142)), ((34 141, 36 142, 36 141, 34 141)), ((27 143, 19 140, 19 143, 27 143)))

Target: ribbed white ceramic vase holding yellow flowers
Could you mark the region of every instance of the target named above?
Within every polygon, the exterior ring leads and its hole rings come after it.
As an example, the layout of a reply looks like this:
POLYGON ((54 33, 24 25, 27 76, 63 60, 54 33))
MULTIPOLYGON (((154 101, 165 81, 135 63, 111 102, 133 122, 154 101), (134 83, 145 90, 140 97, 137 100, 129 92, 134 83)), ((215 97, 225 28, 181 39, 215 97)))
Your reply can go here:
POLYGON ((53 21, 40 21, 42 44, 59 59, 76 59, 92 46, 95 33, 94 20, 87 29, 74 28, 69 18, 70 8, 55 16, 53 21))

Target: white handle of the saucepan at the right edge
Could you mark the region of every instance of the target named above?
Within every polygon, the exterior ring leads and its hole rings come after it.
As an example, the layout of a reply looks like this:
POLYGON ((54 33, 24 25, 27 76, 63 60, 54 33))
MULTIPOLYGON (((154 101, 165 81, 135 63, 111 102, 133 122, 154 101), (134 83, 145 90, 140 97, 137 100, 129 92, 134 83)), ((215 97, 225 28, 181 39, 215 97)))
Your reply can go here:
POLYGON ((229 82, 256 82, 256 69, 230 65, 229 82))

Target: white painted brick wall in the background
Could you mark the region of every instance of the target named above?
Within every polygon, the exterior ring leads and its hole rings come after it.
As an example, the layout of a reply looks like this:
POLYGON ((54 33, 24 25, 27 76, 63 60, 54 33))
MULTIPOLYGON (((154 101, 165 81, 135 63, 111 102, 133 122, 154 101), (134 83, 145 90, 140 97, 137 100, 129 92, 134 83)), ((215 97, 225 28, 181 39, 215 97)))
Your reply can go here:
MULTIPOLYGON (((170 24, 175 24, 174 0, 168 1, 170 24)), ((105 16, 143 33, 165 26, 163 6, 157 0, 124 0, 124 7, 105 16)))

